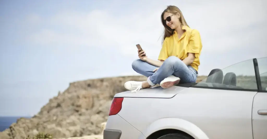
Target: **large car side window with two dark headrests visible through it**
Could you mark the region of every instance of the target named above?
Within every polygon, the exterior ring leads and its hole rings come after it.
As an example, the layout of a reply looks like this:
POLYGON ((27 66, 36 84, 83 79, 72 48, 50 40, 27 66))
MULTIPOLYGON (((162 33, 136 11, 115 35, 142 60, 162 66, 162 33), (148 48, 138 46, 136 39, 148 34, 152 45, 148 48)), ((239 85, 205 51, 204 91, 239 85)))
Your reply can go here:
POLYGON ((221 70, 214 69, 211 73, 194 87, 257 91, 253 59, 239 62, 221 70))

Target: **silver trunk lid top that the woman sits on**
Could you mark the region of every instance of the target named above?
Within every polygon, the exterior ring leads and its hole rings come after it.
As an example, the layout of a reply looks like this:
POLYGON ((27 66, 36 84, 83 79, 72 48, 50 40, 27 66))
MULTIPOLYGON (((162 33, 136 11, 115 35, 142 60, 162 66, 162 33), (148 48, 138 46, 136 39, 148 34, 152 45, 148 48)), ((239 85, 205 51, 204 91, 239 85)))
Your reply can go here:
POLYGON ((138 92, 132 93, 131 91, 125 91, 117 93, 114 98, 117 97, 130 97, 130 98, 172 98, 187 87, 171 86, 167 89, 162 87, 151 87, 146 89, 140 89, 138 92))

